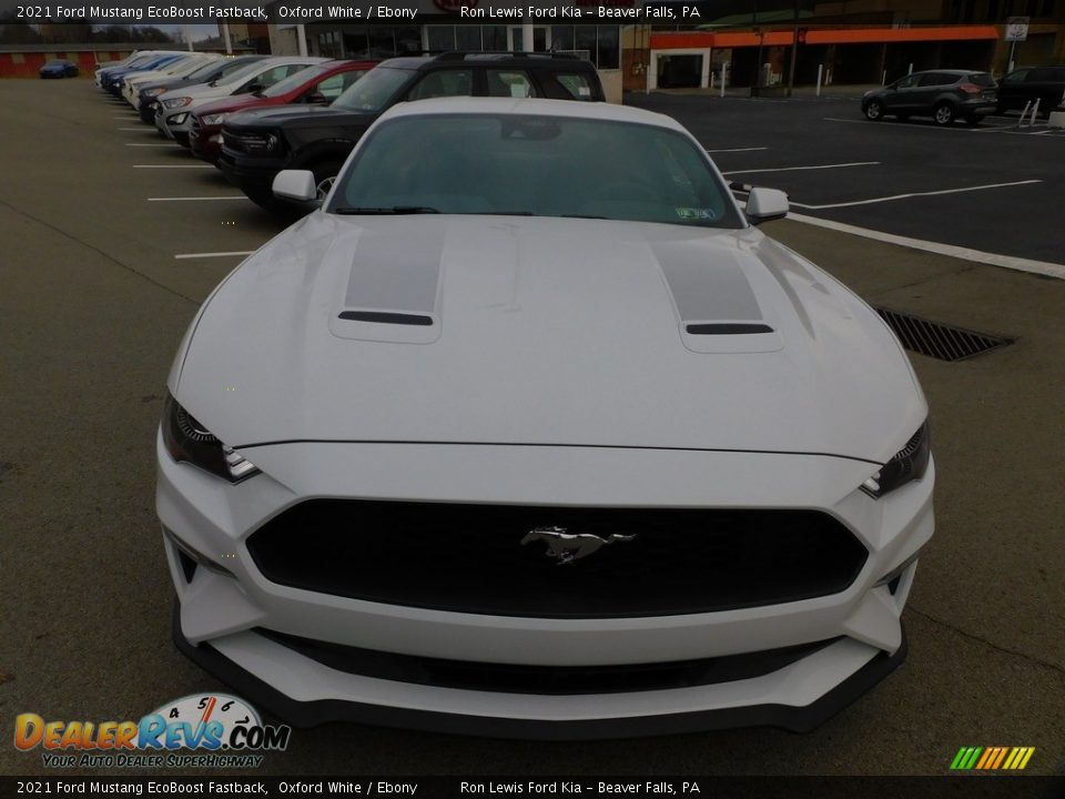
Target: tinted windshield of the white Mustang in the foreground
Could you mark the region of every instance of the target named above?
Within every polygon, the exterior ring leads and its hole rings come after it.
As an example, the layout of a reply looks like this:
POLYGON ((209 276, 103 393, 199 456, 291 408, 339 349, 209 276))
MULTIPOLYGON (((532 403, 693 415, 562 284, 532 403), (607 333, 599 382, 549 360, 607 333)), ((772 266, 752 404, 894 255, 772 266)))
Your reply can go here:
POLYGON ((646 124, 405 117, 375 130, 338 183, 328 209, 335 213, 416 209, 743 226, 700 148, 678 131, 646 124))

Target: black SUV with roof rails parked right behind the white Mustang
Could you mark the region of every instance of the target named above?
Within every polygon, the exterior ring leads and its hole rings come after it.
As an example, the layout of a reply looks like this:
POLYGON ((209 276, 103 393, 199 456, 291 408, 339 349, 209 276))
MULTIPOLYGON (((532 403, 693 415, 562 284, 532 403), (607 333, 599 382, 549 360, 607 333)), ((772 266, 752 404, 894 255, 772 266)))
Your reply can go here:
POLYGON ((234 114, 222 129, 219 168, 265 209, 292 211, 274 198, 274 175, 314 172, 318 199, 328 193, 363 133, 397 102, 439 97, 539 97, 601 102, 596 68, 561 53, 466 53, 382 62, 327 108, 281 105, 234 114))

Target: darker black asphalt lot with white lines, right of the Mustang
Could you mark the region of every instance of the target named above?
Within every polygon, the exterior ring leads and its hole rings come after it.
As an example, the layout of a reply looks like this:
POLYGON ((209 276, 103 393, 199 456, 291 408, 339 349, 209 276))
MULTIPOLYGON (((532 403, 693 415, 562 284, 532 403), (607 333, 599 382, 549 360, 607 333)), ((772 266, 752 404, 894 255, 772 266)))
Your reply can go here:
POLYGON ((784 190, 801 215, 1057 264, 1065 275, 1065 131, 1045 121, 869 122, 859 98, 630 93, 626 103, 674 117, 727 178, 784 190))

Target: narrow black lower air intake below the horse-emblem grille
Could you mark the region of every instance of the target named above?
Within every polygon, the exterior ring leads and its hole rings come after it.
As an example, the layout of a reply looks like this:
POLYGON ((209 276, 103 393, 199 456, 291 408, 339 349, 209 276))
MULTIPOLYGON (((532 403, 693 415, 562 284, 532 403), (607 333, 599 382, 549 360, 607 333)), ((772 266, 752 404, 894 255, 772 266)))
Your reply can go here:
POLYGON ((830 644, 812 644, 698 660, 625 666, 525 666, 445 660, 361 649, 257 628, 261 636, 345 674, 397 682, 506 694, 579 695, 667 690, 754 679, 791 666, 830 644))

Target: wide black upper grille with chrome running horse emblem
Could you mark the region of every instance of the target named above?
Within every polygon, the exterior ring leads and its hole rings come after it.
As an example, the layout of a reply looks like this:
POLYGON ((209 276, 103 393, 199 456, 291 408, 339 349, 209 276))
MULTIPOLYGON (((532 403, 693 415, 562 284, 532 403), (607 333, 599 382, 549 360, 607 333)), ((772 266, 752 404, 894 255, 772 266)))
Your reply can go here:
MULTIPOLYGON (((545 538, 551 538, 548 534, 545 538)), ((813 510, 574 508, 313 499, 247 539, 285 586, 458 613, 604 618, 709 613, 835 594, 864 546, 813 510), (535 528, 616 540, 570 563, 535 528), (635 536, 631 539, 623 537, 635 536), (537 536, 534 536, 537 537, 537 536)))

